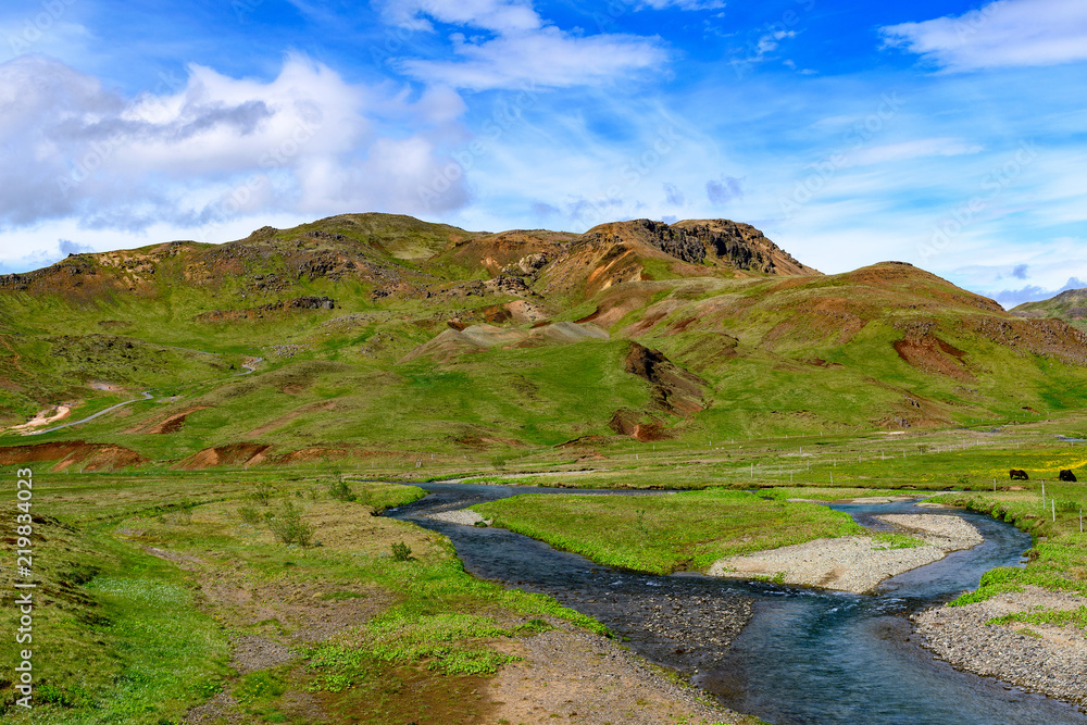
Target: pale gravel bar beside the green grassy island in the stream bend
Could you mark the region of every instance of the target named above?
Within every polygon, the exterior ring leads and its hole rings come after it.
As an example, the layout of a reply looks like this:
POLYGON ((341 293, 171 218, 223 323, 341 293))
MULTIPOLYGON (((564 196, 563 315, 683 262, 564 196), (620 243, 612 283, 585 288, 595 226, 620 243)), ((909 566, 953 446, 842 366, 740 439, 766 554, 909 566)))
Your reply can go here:
POLYGON ((927 543, 912 549, 889 549, 869 536, 815 539, 746 557, 728 557, 710 566, 710 576, 772 577, 840 591, 869 591, 886 578, 942 559, 949 551, 982 542, 976 528, 959 516, 899 514, 880 521, 908 530, 927 543))

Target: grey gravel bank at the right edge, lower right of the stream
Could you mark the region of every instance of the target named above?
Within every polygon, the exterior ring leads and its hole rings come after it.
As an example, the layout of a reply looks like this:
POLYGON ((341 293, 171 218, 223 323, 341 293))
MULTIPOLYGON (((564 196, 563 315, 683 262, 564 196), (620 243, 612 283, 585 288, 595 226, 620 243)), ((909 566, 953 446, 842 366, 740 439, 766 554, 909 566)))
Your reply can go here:
POLYGON ((964 607, 913 615, 924 647, 960 670, 1087 704, 1087 639, 1075 626, 986 624, 1013 612, 1074 610, 1087 599, 1025 587, 964 607))

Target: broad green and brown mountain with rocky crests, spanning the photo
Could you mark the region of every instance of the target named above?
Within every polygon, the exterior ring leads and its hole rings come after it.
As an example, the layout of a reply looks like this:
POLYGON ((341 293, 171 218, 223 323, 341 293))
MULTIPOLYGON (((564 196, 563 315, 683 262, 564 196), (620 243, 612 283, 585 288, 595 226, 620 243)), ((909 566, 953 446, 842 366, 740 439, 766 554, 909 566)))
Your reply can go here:
POLYGON ((101 467, 948 426, 1078 408, 1087 380, 1061 320, 907 264, 823 275, 727 220, 348 214, 73 255, 0 277, 0 343, 5 426, 150 391, 2 441, 101 467))

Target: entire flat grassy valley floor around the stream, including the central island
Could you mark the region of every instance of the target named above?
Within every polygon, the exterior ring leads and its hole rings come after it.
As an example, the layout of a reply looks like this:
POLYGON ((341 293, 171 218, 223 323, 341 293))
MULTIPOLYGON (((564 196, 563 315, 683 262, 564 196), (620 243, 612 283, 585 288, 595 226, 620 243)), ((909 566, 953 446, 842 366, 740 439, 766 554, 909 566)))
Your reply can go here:
MULTIPOLYGON (((1085 428, 1082 417, 1066 416, 898 436, 616 442, 595 445, 588 460, 548 447, 470 465, 492 483, 696 489, 637 499, 525 496, 480 508, 515 530, 649 572, 697 570, 733 553, 857 530, 844 515, 785 498, 957 489, 945 500, 1035 535, 1029 565, 986 575, 979 592, 962 599, 972 601, 1026 584, 1087 591, 1078 528, 1087 484, 1053 480, 1060 468, 1084 473, 1082 443, 1057 436, 1080 437, 1085 428), (1011 467, 1030 479, 1010 482, 1011 467)), ((440 536, 370 515, 420 496, 412 480, 465 473, 463 462, 416 451, 372 464, 117 473, 34 464, 35 528, 43 537, 35 626, 49 633, 35 642, 35 722, 176 722, 218 693, 267 722, 308 722, 321 712, 391 724, 404 708, 457 722, 480 678, 502 664, 488 641, 532 636, 547 616, 598 627, 546 598, 473 579, 440 536), (332 495, 340 479, 355 500, 332 495), (274 539, 267 515, 280 516, 285 502, 312 527, 314 546, 274 539), (411 549, 403 561, 399 545, 411 549), (367 624, 307 639, 314 622, 337 617, 367 624), (237 672, 229 657, 239 637, 291 642, 296 651, 237 672)), ((5 570, 0 586, 11 590, 12 576, 5 570)), ((15 626, 12 608, 0 615, 0 626, 15 626)), ((10 709, 0 717, 24 722, 10 709)))

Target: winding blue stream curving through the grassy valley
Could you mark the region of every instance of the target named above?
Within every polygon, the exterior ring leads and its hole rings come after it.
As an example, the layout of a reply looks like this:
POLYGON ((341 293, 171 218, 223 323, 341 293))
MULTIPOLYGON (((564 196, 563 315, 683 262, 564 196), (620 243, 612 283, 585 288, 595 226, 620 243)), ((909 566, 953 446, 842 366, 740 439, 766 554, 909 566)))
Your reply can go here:
MULTIPOLYGON (((994 566, 1021 562, 1030 537, 991 517, 924 510, 966 518, 985 542, 888 579, 874 596, 862 596, 697 574, 635 574, 502 528, 422 516, 517 493, 615 495, 613 490, 471 484, 422 488, 430 496, 389 515, 448 536, 468 572, 546 592, 597 617, 647 659, 684 672, 723 704, 770 723, 1087 724, 1087 715, 1073 707, 958 672, 911 641, 911 625, 903 615, 975 588, 994 566), (738 627, 728 623, 747 611, 753 614, 737 635, 738 627), (729 639, 732 647, 716 645, 729 639)), ((873 515, 921 511, 913 503, 834 508, 865 525, 874 524, 873 515)))

